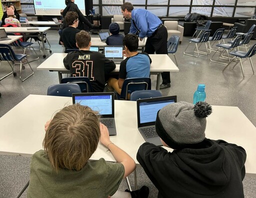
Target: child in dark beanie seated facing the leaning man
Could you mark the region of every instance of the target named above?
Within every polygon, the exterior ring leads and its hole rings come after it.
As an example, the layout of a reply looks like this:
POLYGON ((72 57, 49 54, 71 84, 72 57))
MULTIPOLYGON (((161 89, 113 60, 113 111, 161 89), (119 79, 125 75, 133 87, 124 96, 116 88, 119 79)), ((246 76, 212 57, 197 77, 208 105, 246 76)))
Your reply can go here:
POLYGON ((119 33, 120 27, 116 22, 109 25, 110 36, 106 38, 107 45, 122 45, 123 35, 119 33))

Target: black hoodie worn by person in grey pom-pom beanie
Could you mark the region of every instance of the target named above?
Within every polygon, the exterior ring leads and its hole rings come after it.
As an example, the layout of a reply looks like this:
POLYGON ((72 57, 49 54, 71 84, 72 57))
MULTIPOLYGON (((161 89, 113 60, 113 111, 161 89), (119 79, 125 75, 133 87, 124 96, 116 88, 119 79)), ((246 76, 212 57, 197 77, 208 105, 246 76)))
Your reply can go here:
POLYGON ((244 197, 246 152, 223 140, 204 139, 168 152, 143 143, 137 160, 158 189, 158 197, 244 197))

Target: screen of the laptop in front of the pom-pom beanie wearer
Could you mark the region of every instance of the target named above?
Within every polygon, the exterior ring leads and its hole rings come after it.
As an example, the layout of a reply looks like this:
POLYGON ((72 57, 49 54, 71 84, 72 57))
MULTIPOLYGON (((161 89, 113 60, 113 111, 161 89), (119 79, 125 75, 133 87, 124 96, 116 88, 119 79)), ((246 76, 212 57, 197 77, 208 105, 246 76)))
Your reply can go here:
POLYGON ((137 100, 138 127, 154 125, 159 109, 176 102, 176 96, 152 97, 137 100))

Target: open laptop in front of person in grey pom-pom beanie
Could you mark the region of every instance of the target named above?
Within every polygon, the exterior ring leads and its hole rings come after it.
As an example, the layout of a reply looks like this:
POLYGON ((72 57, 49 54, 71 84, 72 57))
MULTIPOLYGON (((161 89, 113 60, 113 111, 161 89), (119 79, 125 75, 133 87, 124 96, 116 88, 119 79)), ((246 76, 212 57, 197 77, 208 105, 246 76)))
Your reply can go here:
POLYGON ((159 109, 174 102, 177 102, 176 95, 137 99, 138 130, 145 141, 162 145, 160 137, 155 132, 156 114, 159 109))

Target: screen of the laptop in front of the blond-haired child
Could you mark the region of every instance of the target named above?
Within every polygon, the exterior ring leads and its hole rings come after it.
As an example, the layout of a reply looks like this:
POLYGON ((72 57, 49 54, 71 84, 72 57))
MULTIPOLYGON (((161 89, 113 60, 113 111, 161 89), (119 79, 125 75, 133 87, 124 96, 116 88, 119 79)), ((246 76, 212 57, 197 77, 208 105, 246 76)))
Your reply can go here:
POLYGON ((73 103, 89 106, 92 110, 98 111, 102 117, 114 117, 112 92, 99 93, 73 93, 73 103))

